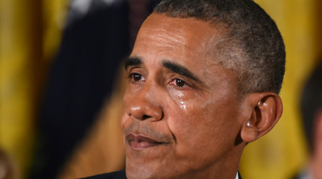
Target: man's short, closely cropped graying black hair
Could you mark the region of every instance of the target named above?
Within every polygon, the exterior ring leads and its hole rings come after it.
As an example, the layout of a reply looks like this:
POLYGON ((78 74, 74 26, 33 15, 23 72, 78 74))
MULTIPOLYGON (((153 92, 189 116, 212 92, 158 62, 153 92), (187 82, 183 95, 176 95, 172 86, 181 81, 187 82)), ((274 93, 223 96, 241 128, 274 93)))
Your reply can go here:
POLYGON ((225 29, 214 45, 226 68, 233 69, 241 95, 281 90, 285 46, 270 16, 250 0, 164 0, 154 13, 209 21, 225 29))

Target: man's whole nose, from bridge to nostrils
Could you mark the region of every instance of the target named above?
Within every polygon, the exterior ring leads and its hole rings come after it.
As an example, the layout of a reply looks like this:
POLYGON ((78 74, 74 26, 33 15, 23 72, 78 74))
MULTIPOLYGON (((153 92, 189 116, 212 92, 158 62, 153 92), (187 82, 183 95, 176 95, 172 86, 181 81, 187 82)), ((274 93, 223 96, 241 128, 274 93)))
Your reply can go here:
POLYGON ((159 121, 163 111, 159 101, 157 87, 153 81, 146 81, 133 98, 129 115, 138 120, 159 121))

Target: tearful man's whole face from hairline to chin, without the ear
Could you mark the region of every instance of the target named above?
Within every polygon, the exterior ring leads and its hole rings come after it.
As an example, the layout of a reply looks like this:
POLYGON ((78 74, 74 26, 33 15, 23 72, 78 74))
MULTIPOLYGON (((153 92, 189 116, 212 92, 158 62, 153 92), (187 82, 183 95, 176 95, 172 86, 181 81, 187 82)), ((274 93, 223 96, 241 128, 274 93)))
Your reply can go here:
POLYGON ((126 62, 128 178, 206 178, 238 164, 243 102, 233 72, 214 59, 220 37, 193 18, 152 14, 141 27, 126 62))

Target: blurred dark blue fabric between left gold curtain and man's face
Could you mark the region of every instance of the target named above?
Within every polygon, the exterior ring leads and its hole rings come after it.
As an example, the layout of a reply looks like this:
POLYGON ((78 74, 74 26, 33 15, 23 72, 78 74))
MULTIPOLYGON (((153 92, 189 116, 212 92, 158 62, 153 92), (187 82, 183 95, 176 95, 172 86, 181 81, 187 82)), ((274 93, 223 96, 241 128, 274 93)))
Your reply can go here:
POLYGON ((39 108, 30 178, 56 177, 111 93, 116 70, 131 51, 129 7, 117 2, 97 6, 63 32, 39 108))

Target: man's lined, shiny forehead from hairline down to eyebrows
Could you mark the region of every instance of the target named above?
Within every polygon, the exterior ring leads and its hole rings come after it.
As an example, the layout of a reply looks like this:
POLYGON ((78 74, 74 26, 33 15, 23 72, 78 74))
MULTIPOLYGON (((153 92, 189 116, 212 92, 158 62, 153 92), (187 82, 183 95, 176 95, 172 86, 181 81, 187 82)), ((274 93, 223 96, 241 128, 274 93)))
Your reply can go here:
POLYGON ((131 55, 142 57, 145 62, 172 60, 201 78, 212 77, 214 73, 225 77, 231 72, 223 73, 222 60, 216 59, 215 46, 222 40, 221 34, 221 28, 206 21, 154 13, 137 34, 131 55))

